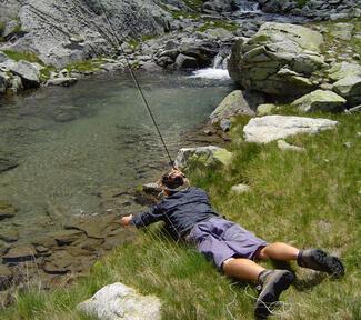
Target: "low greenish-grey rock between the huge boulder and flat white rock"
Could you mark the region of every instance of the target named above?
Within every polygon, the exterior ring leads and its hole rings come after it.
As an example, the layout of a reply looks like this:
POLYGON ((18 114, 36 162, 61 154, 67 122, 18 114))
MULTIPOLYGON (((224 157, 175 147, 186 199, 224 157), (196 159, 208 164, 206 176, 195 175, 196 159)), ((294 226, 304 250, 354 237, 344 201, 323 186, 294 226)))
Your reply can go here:
POLYGON ((347 100, 339 94, 327 91, 315 90, 309 94, 301 97, 292 102, 292 106, 297 107, 300 111, 341 111, 344 109, 347 100))

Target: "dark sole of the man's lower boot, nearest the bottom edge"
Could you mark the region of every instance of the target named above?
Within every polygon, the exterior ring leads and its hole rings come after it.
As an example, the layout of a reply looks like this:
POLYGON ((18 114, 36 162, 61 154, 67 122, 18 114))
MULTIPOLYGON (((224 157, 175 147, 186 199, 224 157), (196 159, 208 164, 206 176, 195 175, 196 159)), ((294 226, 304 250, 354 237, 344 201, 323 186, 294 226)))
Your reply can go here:
POLYGON ((278 277, 274 277, 274 279, 263 288, 257 299, 254 316, 258 320, 267 319, 267 317, 271 314, 271 304, 279 300, 282 291, 287 290, 295 279, 290 271, 284 270, 279 273, 278 277))

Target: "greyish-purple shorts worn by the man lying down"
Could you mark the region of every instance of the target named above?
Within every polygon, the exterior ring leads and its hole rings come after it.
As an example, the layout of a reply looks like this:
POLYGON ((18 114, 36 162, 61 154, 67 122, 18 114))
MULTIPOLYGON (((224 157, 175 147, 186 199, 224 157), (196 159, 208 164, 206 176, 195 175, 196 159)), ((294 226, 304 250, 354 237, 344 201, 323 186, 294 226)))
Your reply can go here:
POLYGON ((258 250, 268 244, 239 224, 220 217, 197 223, 188 239, 220 270, 230 258, 253 260, 258 250))

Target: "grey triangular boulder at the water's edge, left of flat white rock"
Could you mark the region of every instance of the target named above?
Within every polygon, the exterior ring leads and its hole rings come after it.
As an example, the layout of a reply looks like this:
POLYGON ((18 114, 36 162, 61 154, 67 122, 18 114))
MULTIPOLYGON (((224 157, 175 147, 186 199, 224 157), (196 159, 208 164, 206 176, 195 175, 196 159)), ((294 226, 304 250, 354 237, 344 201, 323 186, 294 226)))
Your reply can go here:
MULTIPOLYGON (((241 90, 235 90, 228 94, 223 101, 217 107, 217 109, 209 117, 212 123, 220 122, 222 119, 230 119, 233 116, 244 114, 254 116, 255 112, 251 109, 254 108, 253 103, 245 100, 249 96, 244 96, 241 90)), ((249 99, 250 100, 250 99, 249 99)))

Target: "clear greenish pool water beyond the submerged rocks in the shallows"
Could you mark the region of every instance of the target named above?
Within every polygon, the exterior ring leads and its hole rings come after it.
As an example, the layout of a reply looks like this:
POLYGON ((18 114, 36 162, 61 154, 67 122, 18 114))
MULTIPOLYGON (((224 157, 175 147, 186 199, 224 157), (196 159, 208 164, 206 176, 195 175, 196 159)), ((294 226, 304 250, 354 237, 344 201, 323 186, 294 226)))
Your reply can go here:
MULTIPOLYGON (((229 80, 185 74, 139 74, 172 157, 183 132, 208 119, 231 91, 229 80)), ((19 208, 11 223, 39 230, 47 212, 96 213, 104 186, 127 189, 149 182, 167 158, 138 91, 128 76, 43 88, 0 100, 0 152, 19 167, 0 173, 0 200, 19 208)))

